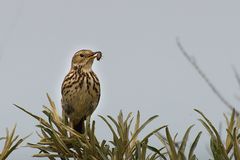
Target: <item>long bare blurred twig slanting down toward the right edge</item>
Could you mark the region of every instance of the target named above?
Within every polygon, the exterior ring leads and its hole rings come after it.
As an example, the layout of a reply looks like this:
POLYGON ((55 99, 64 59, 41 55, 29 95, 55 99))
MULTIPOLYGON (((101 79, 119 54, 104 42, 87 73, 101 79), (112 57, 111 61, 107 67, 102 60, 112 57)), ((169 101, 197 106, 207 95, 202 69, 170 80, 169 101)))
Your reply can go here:
MULTIPOLYGON (((213 93, 221 100, 222 103, 224 103, 229 109, 233 110, 234 107, 220 94, 220 92, 217 90, 217 88, 211 83, 211 81, 208 79, 208 77, 204 74, 204 72, 199 68, 197 63, 195 62, 194 58, 192 58, 186 50, 183 48, 182 44, 180 43, 180 40, 177 38, 177 45, 179 49, 181 50, 184 57, 191 63, 191 65, 196 69, 196 71, 199 73, 199 75, 205 80, 207 85, 212 89, 213 93)), ((239 114, 236 112, 236 114, 239 114)))

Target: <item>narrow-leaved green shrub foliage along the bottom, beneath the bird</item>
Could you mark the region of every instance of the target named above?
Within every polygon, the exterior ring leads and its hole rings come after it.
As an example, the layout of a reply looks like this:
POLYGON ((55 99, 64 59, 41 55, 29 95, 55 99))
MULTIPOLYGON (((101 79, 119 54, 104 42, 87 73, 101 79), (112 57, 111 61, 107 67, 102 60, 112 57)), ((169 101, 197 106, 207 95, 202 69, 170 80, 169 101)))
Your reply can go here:
MULTIPOLYGON (((200 140, 202 131, 193 140, 189 140, 191 129, 187 128, 182 139, 177 141, 177 134, 171 135, 169 127, 160 126, 139 138, 144 128, 158 116, 152 116, 145 122, 140 122, 140 112, 136 117, 129 113, 124 117, 120 112, 117 118, 112 116, 99 116, 108 126, 111 139, 99 139, 95 134, 95 121, 90 117, 86 121, 84 134, 79 134, 72 129, 58 114, 56 106, 48 96, 50 106, 43 106, 43 116, 35 115, 24 108, 15 105, 35 120, 38 124, 39 141, 27 143, 27 147, 34 148, 36 154, 33 157, 48 158, 50 160, 197 160, 195 149, 200 140), (158 147, 153 146, 150 138, 159 140, 158 147), (190 141, 192 143, 190 143, 190 141), (159 147, 160 146, 160 147, 159 147)), ((199 110, 195 110, 200 118, 200 123, 210 136, 211 157, 214 160, 240 160, 239 142, 239 115, 233 110, 230 118, 224 115, 227 123, 226 137, 221 138, 219 131, 211 121, 199 110)), ((26 138, 15 136, 15 127, 5 137, 0 159, 6 159, 26 138)))

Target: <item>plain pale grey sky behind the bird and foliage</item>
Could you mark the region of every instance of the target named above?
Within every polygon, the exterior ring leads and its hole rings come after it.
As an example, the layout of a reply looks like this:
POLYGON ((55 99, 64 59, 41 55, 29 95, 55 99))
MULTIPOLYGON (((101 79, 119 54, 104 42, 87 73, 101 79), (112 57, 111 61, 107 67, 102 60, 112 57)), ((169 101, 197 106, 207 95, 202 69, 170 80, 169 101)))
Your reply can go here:
MULTIPOLYGON (((158 114, 149 129, 169 124, 171 133, 180 136, 193 123, 193 135, 203 130, 193 108, 218 125, 229 110, 181 55, 175 38, 237 105, 234 96, 240 93, 231 65, 240 70, 239 5, 223 0, 1 0, 0 135, 15 123, 22 136, 35 131, 36 122, 13 103, 40 114, 48 92, 60 111, 60 86, 72 55, 81 48, 104 56, 94 64, 102 84, 93 116, 100 137, 106 127, 97 115, 116 116, 121 109, 140 110, 142 119, 158 114)), ((197 148, 200 159, 209 157, 206 137, 197 148)), ((11 159, 30 160, 33 153, 21 148, 11 159)))

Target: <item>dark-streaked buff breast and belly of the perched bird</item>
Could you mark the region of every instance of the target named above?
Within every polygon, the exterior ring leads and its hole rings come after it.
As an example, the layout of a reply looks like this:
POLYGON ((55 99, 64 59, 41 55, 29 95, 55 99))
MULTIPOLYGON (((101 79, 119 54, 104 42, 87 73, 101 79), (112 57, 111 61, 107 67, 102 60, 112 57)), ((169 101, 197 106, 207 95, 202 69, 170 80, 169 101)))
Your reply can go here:
POLYGON ((62 86, 63 110, 71 108, 69 117, 83 117, 92 114, 100 99, 100 83, 94 72, 82 72, 66 78, 62 86))

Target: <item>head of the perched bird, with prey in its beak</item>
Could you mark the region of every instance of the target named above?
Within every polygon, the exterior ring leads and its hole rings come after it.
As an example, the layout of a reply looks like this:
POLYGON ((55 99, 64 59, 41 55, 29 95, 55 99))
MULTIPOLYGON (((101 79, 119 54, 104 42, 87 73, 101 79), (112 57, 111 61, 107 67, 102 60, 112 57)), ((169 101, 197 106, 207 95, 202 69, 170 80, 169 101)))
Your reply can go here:
POLYGON ((91 50, 77 51, 72 58, 72 68, 81 67, 84 70, 91 70, 94 59, 100 60, 102 53, 100 51, 93 52, 91 50))

